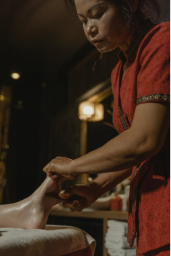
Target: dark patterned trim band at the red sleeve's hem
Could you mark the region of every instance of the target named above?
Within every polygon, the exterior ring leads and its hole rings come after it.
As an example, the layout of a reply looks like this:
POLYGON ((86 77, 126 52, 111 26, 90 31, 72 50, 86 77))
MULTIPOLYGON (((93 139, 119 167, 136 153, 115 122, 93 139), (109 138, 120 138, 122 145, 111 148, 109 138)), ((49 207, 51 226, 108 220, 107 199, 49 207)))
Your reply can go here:
POLYGON ((170 95, 165 94, 151 94, 148 96, 143 96, 138 98, 136 101, 136 104, 142 104, 146 102, 153 102, 153 101, 164 101, 164 102, 170 102, 170 95))

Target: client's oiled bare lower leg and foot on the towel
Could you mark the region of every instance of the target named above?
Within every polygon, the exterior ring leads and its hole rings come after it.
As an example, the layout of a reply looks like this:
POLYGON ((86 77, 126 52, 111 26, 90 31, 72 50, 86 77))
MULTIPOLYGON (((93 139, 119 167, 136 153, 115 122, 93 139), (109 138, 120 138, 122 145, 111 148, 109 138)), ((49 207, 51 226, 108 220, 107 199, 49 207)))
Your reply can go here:
POLYGON ((47 177, 30 197, 18 203, 1 205, 0 228, 43 229, 52 206, 59 203, 46 194, 59 192, 56 182, 47 177))

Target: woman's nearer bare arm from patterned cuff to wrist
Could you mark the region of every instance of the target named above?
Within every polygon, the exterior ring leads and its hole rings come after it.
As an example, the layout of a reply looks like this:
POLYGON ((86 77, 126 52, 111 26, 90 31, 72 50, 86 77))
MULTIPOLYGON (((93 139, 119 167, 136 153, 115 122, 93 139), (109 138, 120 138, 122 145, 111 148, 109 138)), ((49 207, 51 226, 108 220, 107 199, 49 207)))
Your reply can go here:
POLYGON ((68 174, 108 173, 138 166, 162 150, 169 128, 170 105, 142 104, 137 107, 129 130, 98 150, 73 160, 68 174))

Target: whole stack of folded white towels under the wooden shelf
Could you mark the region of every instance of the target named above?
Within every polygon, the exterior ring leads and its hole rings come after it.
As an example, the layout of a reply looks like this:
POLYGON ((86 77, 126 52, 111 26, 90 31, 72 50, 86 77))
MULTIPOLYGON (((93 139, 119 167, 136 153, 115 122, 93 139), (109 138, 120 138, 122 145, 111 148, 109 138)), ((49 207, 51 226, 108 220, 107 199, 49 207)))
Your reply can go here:
POLYGON ((130 249, 127 242, 127 222, 108 220, 106 249, 110 256, 135 256, 136 247, 130 249))

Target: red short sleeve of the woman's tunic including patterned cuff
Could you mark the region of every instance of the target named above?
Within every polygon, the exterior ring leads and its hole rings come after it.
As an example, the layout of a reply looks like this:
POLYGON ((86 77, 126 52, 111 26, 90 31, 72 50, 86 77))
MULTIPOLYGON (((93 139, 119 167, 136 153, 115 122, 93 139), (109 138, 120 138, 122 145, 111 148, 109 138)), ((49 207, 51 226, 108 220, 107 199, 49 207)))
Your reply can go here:
POLYGON ((154 101, 170 102, 170 23, 148 35, 140 58, 137 105, 154 101))

